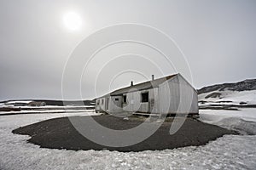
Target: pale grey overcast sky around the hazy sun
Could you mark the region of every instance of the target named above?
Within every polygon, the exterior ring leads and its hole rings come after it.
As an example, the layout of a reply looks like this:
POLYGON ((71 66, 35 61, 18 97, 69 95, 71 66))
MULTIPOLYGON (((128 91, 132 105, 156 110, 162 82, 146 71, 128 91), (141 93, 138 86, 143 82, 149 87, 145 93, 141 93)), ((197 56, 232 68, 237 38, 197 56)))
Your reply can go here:
MULTIPOLYGON (((92 32, 120 23, 153 26, 172 37, 188 60, 195 88, 256 77, 254 0, 1 0, 0 100, 61 99, 62 72, 73 49, 92 32), (79 15, 78 30, 73 31, 65 25, 63 17, 69 12, 79 15)), ((104 58, 99 54, 98 58, 101 57, 104 58)), ((149 63, 140 62, 138 56, 129 57, 144 68, 144 77, 124 73, 124 77, 115 79, 111 89, 128 85, 130 79, 136 83, 151 74, 158 75, 150 70, 149 63)), ((116 60, 115 65, 124 61, 116 60)), ((106 67, 102 84, 114 78, 107 76, 113 67, 106 67)), ((90 68, 98 71, 97 65, 90 65, 90 68)), ((171 67, 164 71, 164 75, 172 73, 175 71, 171 67)), ((85 77, 83 83, 92 82, 85 77)), ((84 99, 95 97, 91 92, 92 84, 82 90, 84 99)), ((107 83, 106 87, 109 86, 112 85, 107 83)), ((100 89, 100 94, 108 88, 100 89)), ((69 93, 73 93, 72 88, 69 93)))

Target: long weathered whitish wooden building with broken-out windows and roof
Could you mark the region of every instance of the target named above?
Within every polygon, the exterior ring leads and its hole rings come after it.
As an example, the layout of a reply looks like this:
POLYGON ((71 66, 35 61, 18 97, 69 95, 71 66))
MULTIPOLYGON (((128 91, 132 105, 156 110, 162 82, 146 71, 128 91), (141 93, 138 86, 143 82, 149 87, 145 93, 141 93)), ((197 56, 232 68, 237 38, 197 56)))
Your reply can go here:
POLYGON ((198 114, 195 88, 180 74, 120 88, 96 99, 96 112, 198 114))

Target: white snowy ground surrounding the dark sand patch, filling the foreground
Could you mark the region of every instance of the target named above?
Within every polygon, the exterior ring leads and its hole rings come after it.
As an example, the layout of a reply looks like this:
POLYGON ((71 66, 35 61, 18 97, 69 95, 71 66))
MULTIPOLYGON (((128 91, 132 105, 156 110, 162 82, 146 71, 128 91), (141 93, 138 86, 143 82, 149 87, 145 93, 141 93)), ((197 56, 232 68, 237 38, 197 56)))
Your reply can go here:
MULTIPOLYGON (((253 131, 255 110, 201 111, 201 120, 218 124, 232 123, 245 131, 253 131), (236 112, 236 113, 235 113, 236 112), (219 120, 221 115, 224 119, 219 120), (232 115, 231 118, 227 115, 232 115), (242 120, 245 118, 245 120, 242 120), (241 120, 242 123, 237 122, 241 120), (253 128, 253 129, 250 129, 253 128)), ((69 115, 96 115, 94 112, 69 115)), ((189 146, 174 150, 122 153, 95 150, 50 150, 28 144, 29 136, 13 134, 17 127, 66 114, 28 114, 0 116, 0 169, 255 169, 256 136, 225 135, 204 146, 189 146)), ((222 124, 223 125, 223 124, 222 124)), ((57 125, 56 125, 57 126, 57 125)), ((228 126, 228 125, 227 125, 228 126)), ((231 127, 231 126, 230 126, 231 127)), ((236 128, 237 129, 237 128, 236 128)))

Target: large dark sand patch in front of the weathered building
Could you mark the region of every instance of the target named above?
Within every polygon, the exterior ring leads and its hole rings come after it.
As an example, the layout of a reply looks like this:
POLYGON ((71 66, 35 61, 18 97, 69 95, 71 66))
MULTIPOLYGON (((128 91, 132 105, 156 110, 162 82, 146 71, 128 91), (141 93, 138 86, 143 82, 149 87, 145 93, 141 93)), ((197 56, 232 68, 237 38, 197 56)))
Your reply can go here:
MULTIPOLYGON (((143 117, 131 117, 124 120, 116 116, 93 116, 96 122, 112 129, 129 129, 137 127, 145 121, 143 117)), ((73 120, 85 122, 88 116, 73 116, 73 120)), ((108 147, 96 144, 80 134, 70 122, 68 117, 50 119, 34 123, 26 127, 19 127, 13 133, 30 135, 28 142, 38 144, 42 148, 67 150, 118 150, 143 151, 165 150, 184 146, 198 146, 222 137, 224 134, 238 134, 223 127, 207 124, 192 118, 187 118, 177 133, 170 135, 172 119, 164 122, 160 128, 143 142, 125 147, 108 147), (171 120, 171 121, 170 121, 171 120)), ((83 123, 76 126, 84 126, 83 123)))

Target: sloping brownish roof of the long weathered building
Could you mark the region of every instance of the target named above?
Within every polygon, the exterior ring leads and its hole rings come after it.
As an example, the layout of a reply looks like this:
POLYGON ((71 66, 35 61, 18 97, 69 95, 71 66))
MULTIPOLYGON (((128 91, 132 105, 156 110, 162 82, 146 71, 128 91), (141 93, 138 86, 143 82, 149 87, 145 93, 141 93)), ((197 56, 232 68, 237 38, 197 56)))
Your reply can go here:
POLYGON ((135 91, 139 91, 139 90, 145 90, 148 88, 157 88, 161 83, 166 82, 166 80, 171 79, 172 77, 177 76, 177 74, 174 75, 170 75, 167 77, 161 77, 158 79, 155 79, 153 81, 148 81, 148 82, 142 82, 139 84, 135 84, 133 86, 129 86, 126 88, 120 88, 118 90, 113 91, 112 93, 110 93, 110 95, 121 95, 121 94, 127 94, 128 92, 135 92, 135 91))

